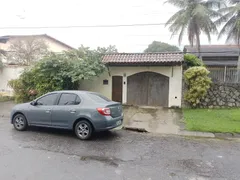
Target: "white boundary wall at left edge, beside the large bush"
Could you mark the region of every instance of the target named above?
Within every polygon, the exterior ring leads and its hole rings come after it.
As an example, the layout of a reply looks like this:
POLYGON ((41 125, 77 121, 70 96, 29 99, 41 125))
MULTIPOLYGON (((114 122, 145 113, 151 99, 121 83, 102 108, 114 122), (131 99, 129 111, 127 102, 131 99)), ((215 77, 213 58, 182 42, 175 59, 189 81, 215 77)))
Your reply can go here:
POLYGON ((24 66, 6 65, 0 70, 0 94, 13 95, 13 90, 8 86, 8 81, 17 79, 24 68, 24 66))

